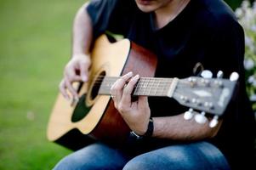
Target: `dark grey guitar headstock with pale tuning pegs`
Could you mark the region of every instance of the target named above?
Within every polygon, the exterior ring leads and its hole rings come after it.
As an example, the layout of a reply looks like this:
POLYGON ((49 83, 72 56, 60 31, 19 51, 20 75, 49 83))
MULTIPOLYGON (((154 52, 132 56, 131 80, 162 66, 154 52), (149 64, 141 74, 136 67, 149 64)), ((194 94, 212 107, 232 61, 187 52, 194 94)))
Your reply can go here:
MULTIPOLYGON (((185 113, 185 119, 191 119, 195 110, 202 111, 201 116, 207 113, 215 116, 215 119, 224 114, 234 94, 236 80, 239 76, 237 73, 232 73, 230 79, 221 77, 188 77, 179 79, 172 97, 180 105, 191 108, 185 113)), ((206 121, 202 117, 198 118, 198 116, 197 118, 195 116, 195 119, 199 123, 206 121)))

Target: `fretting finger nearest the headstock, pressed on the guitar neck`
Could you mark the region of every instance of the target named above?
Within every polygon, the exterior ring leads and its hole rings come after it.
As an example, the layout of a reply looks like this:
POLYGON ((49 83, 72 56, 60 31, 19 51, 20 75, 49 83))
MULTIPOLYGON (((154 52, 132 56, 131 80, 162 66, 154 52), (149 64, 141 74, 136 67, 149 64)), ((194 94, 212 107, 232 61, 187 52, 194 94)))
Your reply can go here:
POLYGON ((127 84, 125 88, 123 88, 122 100, 121 103, 123 105, 131 105, 131 94, 134 90, 135 84, 139 81, 139 75, 133 77, 127 84))

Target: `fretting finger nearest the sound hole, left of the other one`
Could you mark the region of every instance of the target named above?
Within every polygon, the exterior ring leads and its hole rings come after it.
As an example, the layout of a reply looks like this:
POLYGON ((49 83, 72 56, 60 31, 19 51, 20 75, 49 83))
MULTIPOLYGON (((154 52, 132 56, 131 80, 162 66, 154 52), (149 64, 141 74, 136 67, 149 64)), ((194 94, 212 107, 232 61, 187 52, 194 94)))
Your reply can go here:
POLYGON ((119 103, 122 97, 122 88, 131 77, 133 77, 133 72, 128 72, 128 74, 125 74, 113 84, 113 86, 111 87, 111 95, 115 96, 114 102, 119 103))

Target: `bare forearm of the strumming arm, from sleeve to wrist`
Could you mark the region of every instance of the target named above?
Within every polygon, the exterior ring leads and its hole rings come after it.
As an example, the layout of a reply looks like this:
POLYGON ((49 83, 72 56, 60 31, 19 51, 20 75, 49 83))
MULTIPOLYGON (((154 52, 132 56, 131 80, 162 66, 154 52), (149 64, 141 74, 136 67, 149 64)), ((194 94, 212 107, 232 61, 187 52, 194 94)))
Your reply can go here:
POLYGON ((72 33, 72 55, 89 54, 92 38, 93 26, 87 13, 85 3, 78 11, 73 24, 72 33))

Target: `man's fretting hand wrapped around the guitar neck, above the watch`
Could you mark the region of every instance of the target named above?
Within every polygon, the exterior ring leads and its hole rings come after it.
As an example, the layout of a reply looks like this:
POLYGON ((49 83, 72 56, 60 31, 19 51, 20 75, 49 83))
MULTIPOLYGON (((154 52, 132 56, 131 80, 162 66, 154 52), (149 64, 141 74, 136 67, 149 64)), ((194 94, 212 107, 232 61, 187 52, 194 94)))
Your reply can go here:
POLYGON ((112 85, 111 97, 131 130, 143 135, 148 127, 151 110, 146 96, 139 96, 138 100, 132 101, 131 95, 138 81, 139 75, 133 76, 132 72, 128 72, 112 85))

